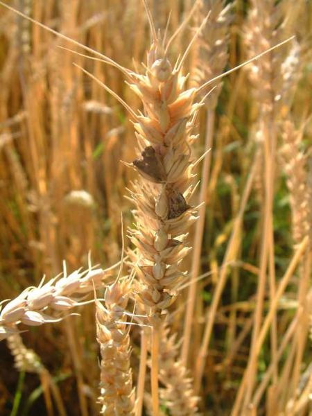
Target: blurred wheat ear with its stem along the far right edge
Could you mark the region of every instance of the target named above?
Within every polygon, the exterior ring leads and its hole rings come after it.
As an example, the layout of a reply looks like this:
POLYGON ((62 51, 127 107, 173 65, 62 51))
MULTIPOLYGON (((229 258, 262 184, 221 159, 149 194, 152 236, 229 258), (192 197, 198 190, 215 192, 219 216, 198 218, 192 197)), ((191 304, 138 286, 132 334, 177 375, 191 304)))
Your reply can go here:
MULTIPOLYGON (((309 222, 311 189, 309 189, 309 173, 307 168, 308 155, 301 148, 304 126, 302 125, 300 130, 296 130, 291 119, 284 121, 282 125, 283 146, 281 148, 281 154, 283 155, 284 170, 287 175, 286 184, 290 193, 293 241, 295 245, 298 245, 304 237, 311 237, 311 223, 309 222)), ((300 380, 304 347, 309 333, 309 303, 306 299, 306 293, 309 291, 309 282, 311 280, 311 259, 310 239, 310 247, 302 257, 302 264, 299 270, 297 301, 300 309, 302 309, 302 314, 297 325, 296 336, 293 338, 295 358, 291 383, 288 385, 286 393, 286 397, 288 397, 287 408, 292 411, 295 408, 297 384, 300 380)))

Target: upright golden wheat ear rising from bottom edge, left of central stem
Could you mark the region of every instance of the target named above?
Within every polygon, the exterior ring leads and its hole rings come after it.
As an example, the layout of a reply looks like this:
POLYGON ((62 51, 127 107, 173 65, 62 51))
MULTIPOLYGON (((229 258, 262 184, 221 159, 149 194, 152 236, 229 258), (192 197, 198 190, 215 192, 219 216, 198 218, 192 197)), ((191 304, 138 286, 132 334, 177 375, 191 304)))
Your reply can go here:
POLYGON ((125 324, 130 281, 108 286, 105 306, 96 301, 96 337, 101 347, 101 404, 103 415, 134 415, 135 390, 130 368, 130 337, 125 324))

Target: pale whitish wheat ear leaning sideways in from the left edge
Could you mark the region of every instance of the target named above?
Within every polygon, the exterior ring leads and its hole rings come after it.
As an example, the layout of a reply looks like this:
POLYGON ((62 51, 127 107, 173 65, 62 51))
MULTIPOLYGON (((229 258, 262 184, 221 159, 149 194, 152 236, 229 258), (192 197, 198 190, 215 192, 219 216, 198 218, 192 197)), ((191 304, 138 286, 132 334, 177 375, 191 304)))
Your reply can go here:
POLYGON ((89 269, 85 272, 75 270, 67 276, 58 279, 54 277, 46 284, 26 288, 14 300, 11 300, 0 312, 0 340, 17 333, 15 324, 19 322, 38 326, 47 322, 58 322, 61 318, 54 318, 46 314, 46 309, 52 311, 69 311, 78 306, 79 297, 96 288, 103 286, 103 279, 109 273, 105 270, 89 269), (58 280, 57 280, 58 279, 58 280))

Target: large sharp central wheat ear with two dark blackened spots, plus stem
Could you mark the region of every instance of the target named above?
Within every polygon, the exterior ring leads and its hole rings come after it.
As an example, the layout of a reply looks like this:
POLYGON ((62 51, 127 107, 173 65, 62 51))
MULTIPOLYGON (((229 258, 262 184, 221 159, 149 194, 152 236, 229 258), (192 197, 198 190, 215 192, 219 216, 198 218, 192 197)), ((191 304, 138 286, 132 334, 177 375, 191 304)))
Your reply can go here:
MULTIPOLYGON (((150 19, 151 21, 151 19, 150 19)), ((204 21, 205 24, 206 21, 204 21)), ((189 252, 186 239, 196 220, 188 203, 191 193, 191 135, 198 105, 196 89, 186 89, 181 69, 188 49, 175 65, 151 23, 153 43, 148 51, 146 73, 130 83, 141 98, 144 114, 136 116, 139 157, 132 166, 139 173, 130 198, 135 203, 135 229, 129 230, 137 248, 134 265, 141 283, 138 300, 148 311, 152 331, 152 399, 157 415, 159 325, 161 315, 176 297, 175 289, 186 279, 181 263, 189 252)))

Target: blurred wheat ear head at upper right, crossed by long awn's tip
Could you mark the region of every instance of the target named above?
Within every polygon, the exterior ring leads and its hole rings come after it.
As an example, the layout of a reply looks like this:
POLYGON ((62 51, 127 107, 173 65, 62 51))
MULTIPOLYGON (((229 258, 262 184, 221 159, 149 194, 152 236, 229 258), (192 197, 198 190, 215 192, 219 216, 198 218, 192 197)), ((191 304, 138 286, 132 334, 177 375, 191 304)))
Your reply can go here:
MULTIPOLYGON (((287 35, 287 0, 276 3, 252 0, 245 24, 245 45, 250 56, 268 49, 287 35)), ((253 94, 261 104, 261 114, 286 115, 299 79, 300 46, 295 40, 289 48, 275 49, 265 58, 253 62, 248 71, 253 94), (258 86, 261 85, 261 88, 258 86)))

